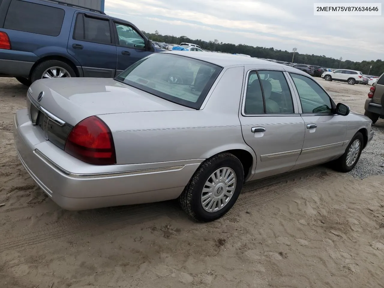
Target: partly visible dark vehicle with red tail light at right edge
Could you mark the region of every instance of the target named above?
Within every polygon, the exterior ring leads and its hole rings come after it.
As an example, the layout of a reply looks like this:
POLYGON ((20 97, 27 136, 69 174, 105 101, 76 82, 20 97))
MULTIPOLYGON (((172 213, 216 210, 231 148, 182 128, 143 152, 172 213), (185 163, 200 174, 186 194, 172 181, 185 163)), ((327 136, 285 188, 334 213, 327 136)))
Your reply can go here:
POLYGON ((379 118, 384 119, 384 73, 369 88, 364 110, 364 115, 369 117, 373 124, 379 118))

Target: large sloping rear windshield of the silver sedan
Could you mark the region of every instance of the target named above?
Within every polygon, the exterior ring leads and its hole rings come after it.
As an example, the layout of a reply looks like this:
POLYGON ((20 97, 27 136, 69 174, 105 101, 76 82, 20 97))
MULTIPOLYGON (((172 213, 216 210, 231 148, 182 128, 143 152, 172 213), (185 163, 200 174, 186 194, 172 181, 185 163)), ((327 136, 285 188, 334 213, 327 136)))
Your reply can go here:
POLYGON ((222 67, 193 58, 153 53, 115 79, 158 97, 200 109, 222 67))

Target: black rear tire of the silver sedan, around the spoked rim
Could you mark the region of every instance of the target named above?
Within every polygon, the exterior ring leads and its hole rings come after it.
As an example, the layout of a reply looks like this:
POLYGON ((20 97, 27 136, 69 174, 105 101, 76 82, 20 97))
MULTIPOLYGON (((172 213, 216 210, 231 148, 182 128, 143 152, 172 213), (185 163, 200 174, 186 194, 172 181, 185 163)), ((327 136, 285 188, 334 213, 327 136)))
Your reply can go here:
MULTIPOLYGON (((220 171, 221 172, 221 171, 220 171)), ((229 175, 228 175, 229 177, 229 175)), ((215 156, 212 156, 211 158, 205 160, 200 167, 196 170, 192 178, 189 180, 188 184, 185 186, 182 194, 179 196, 179 204, 182 207, 182 209, 192 218, 194 218, 197 221, 200 222, 209 222, 216 220, 223 215, 225 215, 235 204, 240 191, 243 187, 244 182, 244 170, 243 165, 240 162, 240 160, 235 157, 233 154, 230 153, 220 153, 215 156), (203 197, 203 189, 205 187, 205 184, 211 180, 211 176, 214 172, 216 172, 220 168, 230 168, 232 169, 233 174, 235 174, 235 187, 232 193, 232 196, 227 200, 226 204, 224 203, 224 200, 221 202, 218 201, 218 204, 222 205, 223 207, 221 209, 218 209, 214 212, 208 212, 204 209, 203 203, 202 203, 202 197, 203 197)), ((208 186, 207 186, 208 187, 208 186)), ((233 188, 233 187, 232 187, 233 188)), ((217 199, 213 198, 212 196, 221 193, 221 197, 225 197, 225 183, 224 182, 218 182, 215 186, 212 187, 212 193, 210 194, 211 197, 205 199, 206 201, 209 201, 208 199, 217 199), (220 186, 219 186, 220 185, 220 186), (221 187, 221 190, 219 190, 221 187), (224 188, 224 190, 222 189, 224 188)), ((209 192, 207 192, 207 196, 209 192)), ((211 200, 213 201, 213 200, 211 200)), ((210 203, 211 201, 207 202, 210 203)), ((210 204, 207 204, 209 207, 210 204)), ((218 208, 218 205, 215 204, 214 208, 218 208)))

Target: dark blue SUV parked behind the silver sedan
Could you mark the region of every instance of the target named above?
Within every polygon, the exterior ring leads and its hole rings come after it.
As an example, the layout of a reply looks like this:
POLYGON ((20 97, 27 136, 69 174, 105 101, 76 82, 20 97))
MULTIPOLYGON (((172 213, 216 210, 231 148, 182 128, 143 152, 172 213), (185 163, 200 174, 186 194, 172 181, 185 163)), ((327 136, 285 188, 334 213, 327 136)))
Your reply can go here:
POLYGON ((157 51, 132 23, 60 1, 0 1, 0 76, 113 78, 157 51))

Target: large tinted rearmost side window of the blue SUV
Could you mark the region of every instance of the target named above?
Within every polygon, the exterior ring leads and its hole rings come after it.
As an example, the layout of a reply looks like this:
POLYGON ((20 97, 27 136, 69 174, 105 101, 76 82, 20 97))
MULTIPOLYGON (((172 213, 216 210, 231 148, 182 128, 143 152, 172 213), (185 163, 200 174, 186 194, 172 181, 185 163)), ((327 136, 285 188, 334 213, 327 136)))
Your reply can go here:
POLYGON ((60 8, 12 0, 5 17, 4 29, 58 36, 64 14, 65 11, 60 8))

